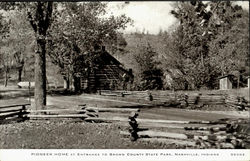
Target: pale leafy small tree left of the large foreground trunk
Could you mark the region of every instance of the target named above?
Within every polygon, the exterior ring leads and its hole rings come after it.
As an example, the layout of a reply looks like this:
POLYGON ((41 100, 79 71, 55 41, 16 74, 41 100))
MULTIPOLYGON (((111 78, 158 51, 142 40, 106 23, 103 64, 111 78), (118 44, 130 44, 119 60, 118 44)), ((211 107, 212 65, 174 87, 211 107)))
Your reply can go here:
MULTIPOLYGON (((26 13, 24 10, 14 10, 6 13, 6 17, 10 21, 8 41, 9 53, 13 61, 13 68, 17 70, 18 81, 21 81, 22 71, 31 70, 32 66, 26 65, 28 59, 32 59, 32 50, 35 46, 35 37, 29 23, 26 21, 26 13)), ((33 59, 34 62, 34 59, 33 59)), ((34 65, 33 65, 34 66, 34 65)))

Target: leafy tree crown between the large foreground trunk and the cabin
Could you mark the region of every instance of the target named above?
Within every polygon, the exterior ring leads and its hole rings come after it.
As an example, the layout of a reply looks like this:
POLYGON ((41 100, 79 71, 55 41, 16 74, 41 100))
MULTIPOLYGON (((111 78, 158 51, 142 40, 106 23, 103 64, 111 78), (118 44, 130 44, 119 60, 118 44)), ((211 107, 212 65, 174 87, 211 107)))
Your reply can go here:
MULTIPOLYGON (((105 17, 106 3, 60 3, 50 29, 50 57, 61 68, 65 79, 74 79, 91 68, 98 46, 126 45, 118 41, 119 29, 131 22, 125 15, 105 17), (120 43, 120 44, 119 44, 120 43), (80 66, 79 66, 80 65, 80 66)), ((114 49, 114 48, 113 48, 114 49)), ((116 50, 116 49, 115 49, 116 50)))

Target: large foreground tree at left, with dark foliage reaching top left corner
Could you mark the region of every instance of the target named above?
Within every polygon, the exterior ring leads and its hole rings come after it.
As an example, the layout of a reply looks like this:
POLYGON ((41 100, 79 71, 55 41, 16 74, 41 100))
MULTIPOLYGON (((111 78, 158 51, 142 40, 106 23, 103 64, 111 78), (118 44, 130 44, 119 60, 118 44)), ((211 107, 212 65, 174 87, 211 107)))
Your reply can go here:
POLYGON ((53 2, 3 2, 0 8, 25 10, 36 39, 35 55, 35 105, 37 109, 46 105, 46 38, 52 23, 53 2))

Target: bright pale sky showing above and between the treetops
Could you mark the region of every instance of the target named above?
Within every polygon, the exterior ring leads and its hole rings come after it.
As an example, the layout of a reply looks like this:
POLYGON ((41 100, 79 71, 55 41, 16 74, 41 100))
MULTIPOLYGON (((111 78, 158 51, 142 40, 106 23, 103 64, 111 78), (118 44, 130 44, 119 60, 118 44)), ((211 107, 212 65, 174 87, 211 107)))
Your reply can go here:
MULTIPOLYGON (((235 2, 244 9, 249 10, 249 1, 235 2)), ((177 20, 170 14, 173 9, 173 2, 154 1, 154 2, 110 2, 108 4, 109 14, 126 14, 134 20, 133 26, 128 26, 125 33, 135 31, 145 31, 150 34, 158 34, 159 30, 171 30, 177 20)))

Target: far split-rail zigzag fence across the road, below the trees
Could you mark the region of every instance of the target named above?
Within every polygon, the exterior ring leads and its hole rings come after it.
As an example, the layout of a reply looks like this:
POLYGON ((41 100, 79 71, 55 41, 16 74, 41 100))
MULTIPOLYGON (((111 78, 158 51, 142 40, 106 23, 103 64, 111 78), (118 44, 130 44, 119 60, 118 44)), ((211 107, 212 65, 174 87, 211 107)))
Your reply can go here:
POLYGON ((111 90, 101 90, 99 93, 104 96, 122 96, 126 97, 126 99, 131 99, 132 101, 149 101, 148 103, 151 102, 152 104, 159 104, 162 106, 202 108, 205 105, 225 105, 228 107, 236 108, 237 110, 247 110, 250 107, 249 102, 244 103, 244 101, 242 101, 245 100, 243 97, 223 94, 176 94, 160 91, 154 92, 111 90))

